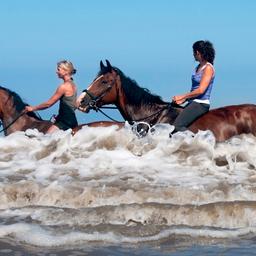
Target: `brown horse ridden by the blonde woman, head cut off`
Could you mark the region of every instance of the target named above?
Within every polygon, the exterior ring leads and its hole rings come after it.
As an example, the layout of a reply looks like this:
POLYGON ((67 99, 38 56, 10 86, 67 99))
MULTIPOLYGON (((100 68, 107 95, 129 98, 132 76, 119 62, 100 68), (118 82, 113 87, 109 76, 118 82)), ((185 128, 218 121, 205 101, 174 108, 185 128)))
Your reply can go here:
MULTIPOLYGON (((20 96, 4 87, 0 86, 0 120, 2 121, 5 135, 9 135, 15 131, 25 131, 27 129, 37 129, 39 132, 46 133, 53 125, 52 122, 42 120, 34 112, 24 112, 25 106, 20 96)), ((110 126, 116 124, 114 122, 99 121, 89 124, 82 124, 74 128, 72 133, 76 133, 82 126, 87 125, 91 127, 110 126)), ((121 126, 122 124, 116 124, 121 126)))

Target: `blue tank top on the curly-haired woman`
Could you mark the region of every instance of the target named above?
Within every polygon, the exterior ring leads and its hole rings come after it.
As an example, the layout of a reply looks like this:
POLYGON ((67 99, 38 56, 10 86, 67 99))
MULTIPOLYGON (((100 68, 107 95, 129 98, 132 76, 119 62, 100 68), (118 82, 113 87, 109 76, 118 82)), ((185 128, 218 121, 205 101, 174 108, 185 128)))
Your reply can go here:
MULTIPOLYGON (((199 87, 206 65, 212 66, 211 63, 207 62, 207 64, 205 64, 205 66, 200 71, 196 72, 196 69, 194 70, 192 77, 191 77, 191 80, 192 80, 192 86, 191 86, 191 90, 190 90, 191 92, 199 87)), ((214 78, 215 78, 215 74, 213 74, 211 81, 210 81, 208 87, 206 88, 205 92, 201 95, 196 96, 195 98, 190 99, 190 101, 192 101, 192 100, 210 100, 214 78)))

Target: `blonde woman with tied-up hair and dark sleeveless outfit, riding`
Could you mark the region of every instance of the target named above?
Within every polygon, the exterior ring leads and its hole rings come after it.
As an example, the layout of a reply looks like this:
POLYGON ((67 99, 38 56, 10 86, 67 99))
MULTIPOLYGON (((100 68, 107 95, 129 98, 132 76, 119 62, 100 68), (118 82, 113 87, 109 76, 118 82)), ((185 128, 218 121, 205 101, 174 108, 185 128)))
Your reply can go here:
POLYGON ((63 60, 57 63, 56 73, 63 80, 63 83, 58 86, 52 97, 40 105, 34 107, 26 106, 25 108, 26 112, 43 110, 60 101, 56 121, 47 133, 54 132, 58 129, 67 130, 78 125, 75 115, 77 87, 72 78, 72 75, 76 73, 76 69, 70 61, 63 60))

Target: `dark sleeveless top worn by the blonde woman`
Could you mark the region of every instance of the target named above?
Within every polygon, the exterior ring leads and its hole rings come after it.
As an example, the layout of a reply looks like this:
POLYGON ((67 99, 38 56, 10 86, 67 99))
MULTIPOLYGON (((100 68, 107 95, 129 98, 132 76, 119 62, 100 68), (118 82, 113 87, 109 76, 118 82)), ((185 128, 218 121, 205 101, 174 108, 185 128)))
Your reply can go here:
POLYGON ((75 92, 72 96, 62 96, 60 98, 59 114, 56 118, 55 125, 62 130, 74 128, 78 126, 75 109, 76 109, 76 97, 75 92))

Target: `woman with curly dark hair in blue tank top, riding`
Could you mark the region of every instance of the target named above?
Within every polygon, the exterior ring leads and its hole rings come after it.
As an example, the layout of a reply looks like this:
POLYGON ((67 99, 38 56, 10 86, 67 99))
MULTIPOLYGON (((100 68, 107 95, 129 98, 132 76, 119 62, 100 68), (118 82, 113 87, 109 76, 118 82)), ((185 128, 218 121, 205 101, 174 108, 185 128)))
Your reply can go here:
POLYGON ((188 102, 174 121, 175 129, 172 134, 185 131, 193 121, 208 112, 210 108, 210 95, 215 77, 213 67, 215 50, 211 42, 200 40, 193 44, 193 55, 199 64, 192 74, 191 91, 172 98, 172 101, 179 105, 188 102))

